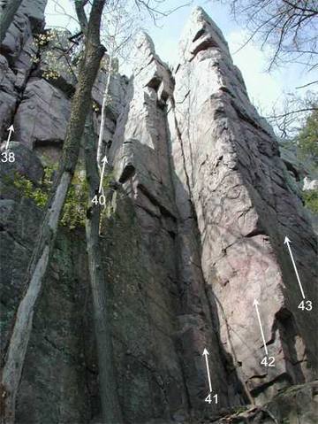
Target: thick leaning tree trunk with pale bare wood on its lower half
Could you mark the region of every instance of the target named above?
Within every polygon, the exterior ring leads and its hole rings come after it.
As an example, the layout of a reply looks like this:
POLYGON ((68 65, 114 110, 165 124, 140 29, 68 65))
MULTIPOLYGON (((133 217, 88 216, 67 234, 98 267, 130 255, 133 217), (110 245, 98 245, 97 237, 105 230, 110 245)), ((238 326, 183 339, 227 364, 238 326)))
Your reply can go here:
POLYGON ((5 356, 1 385, 4 401, 4 424, 14 424, 15 402, 27 344, 32 331, 34 308, 41 296, 44 276, 57 235, 58 220, 78 162, 79 140, 83 134, 91 91, 104 53, 99 37, 104 3, 105 0, 95 0, 92 6, 87 27, 86 49, 79 68, 79 81, 72 99, 71 117, 66 131, 57 179, 35 243, 27 272, 26 291, 19 304, 5 356))

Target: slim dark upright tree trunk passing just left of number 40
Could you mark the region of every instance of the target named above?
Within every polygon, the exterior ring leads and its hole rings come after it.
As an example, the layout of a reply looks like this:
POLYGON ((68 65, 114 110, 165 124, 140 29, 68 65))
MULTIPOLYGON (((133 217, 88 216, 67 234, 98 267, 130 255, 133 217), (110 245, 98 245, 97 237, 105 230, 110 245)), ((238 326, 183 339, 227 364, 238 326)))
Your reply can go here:
POLYGON ((110 332, 110 312, 107 305, 106 274, 102 266, 102 251, 99 237, 101 206, 99 204, 92 204, 92 198, 97 193, 100 182, 96 163, 95 142, 93 113, 91 112, 87 117, 85 131, 85 165, 89 192, 86 238, 98 352, 102 422, 105 424, 120 424, 123 420, 117 397, 117 382, 110 332))

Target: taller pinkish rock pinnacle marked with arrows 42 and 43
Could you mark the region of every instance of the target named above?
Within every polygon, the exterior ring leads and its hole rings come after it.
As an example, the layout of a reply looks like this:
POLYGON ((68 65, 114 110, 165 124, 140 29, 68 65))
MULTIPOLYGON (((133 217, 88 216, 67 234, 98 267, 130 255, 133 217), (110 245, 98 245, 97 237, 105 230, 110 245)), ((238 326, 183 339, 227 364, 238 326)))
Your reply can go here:
POLYGON ((283 245, 289 235, 307 299, 315 303, 314 235, 285 181, 275 136, 250 103, 223 35, 201 9, 182 36, 173 76, 169 122, 181 222, 189 220, 186 193, 201 237, 203 284, 217 307, 216 331, 240 380, 261 402, 316 372, 317 314, 298 309, 302 297, 283 245), (261 366, 254 299, 273 367, 261 366))

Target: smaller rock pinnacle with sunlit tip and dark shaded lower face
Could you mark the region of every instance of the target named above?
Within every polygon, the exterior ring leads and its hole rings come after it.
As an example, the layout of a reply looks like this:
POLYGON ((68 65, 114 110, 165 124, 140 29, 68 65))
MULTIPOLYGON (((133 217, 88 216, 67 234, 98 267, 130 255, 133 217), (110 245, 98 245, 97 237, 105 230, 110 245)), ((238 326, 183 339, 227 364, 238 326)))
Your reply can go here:
MULTIPOLYGON (((155 55, 148 35, 140 34, 137 46, 125 109, 117 120, 110 149, 117 180, 132 202, 131 225, 136 228, 130 232, 130 246, 126 248, 125 242, 124 251, 130 253, 124 254, 117 266, 114 287, 115 297, 125 293, 116 301, 114 331, 120 343, 117 355, 123 358, 118 366, 123 413, 132 423, 159 417, 168 420, 187 409, 174 342, 178 330, 174 318, 178 312, 177 211, 164 110, 165 90, 171 93, 170 74, 155 55)), ((114 234, 105 229, 106 235, 110 233, 114 262, 123 251, 125 234, 117 234, 122 233, 118 223, 126 209, 127 201, 123 204, 118 199, 118 216, 112 219, 114 234)))

